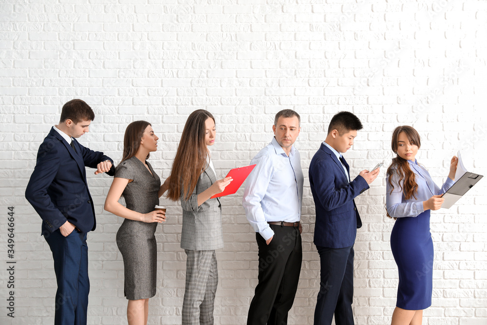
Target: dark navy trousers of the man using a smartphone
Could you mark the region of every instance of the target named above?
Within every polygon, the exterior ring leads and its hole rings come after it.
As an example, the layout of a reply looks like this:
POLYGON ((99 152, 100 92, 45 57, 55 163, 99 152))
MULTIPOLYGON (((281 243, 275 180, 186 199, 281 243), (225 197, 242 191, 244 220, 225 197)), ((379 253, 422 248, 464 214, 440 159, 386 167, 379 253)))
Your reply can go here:
POLYGON ((332 249, 317 246, 320 282, 314 325, 354 325, 354 247, 332 249))

